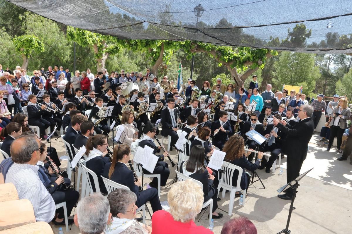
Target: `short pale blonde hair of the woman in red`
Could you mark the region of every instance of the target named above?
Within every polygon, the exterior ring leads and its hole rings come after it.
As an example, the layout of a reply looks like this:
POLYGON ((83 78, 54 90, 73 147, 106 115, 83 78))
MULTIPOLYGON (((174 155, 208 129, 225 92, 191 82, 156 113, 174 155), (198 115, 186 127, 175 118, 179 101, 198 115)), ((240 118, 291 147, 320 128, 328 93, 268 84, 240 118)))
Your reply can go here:
POLYGON ((187 223, 194 220, 203 205, 203 190, 192 180, 179 181, 168 193, 170 214, 175 221, 187 223))

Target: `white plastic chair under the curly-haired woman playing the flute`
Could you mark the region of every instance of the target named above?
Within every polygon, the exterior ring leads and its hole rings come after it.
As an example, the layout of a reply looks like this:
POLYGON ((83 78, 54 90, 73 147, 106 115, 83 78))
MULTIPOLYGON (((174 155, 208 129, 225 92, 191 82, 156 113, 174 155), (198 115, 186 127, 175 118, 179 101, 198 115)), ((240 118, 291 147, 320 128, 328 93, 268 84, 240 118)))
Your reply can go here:
MULTIPOLYGON (((241 191, 241 176, 243 169, 239 166, 236 166, 232 163, 229 162, 223 162, 222 163, 222 170, 224 170, 224 174, 221 175, 221 179, 219 179, 219 186, 218 186, 218 197, 219 197, 219 191, 220 188, 222 188, 222 198, 225 198, 225 192, 226 190, 230 191, 230 204, 228 207, 228 215, 232 215, 232 209, 233 209, 233 203, 235 200, 235 194, 236 192, 241 191), (238 177, 237 177, 237 186, 232 185, 232 177, 233 173, 235 170, 238 171, 238 177)), ((243 190, 243 206, 245 204, 246 200, 246 189, 243 190)))

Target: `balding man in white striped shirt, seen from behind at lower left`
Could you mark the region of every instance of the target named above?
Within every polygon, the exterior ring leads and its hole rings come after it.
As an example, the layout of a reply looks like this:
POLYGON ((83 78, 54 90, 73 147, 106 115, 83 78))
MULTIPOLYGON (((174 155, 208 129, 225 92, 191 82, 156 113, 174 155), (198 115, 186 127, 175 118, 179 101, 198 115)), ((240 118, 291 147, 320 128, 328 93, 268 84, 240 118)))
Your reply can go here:
POLYGON ((36 221, 51 222, 55 216, 55 202, 40 181, 40 143, 34 135, 20 136, 11 145, 11 158, 14 164, 8 169, 6 183, 13 183, 19 199, 28 199, 34 209, 36 221))

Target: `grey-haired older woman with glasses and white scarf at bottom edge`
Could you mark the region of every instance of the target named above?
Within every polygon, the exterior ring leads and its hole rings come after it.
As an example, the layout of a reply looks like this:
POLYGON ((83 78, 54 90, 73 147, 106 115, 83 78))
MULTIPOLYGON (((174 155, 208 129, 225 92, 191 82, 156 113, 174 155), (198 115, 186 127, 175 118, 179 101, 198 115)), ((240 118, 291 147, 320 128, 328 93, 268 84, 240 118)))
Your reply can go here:
POLYGON ((139 223, 136 216, 137 196, 133 192, 119 188, 108 195, 111 222, 106 226, 105 234, 151 234, 152 228, 139 223))

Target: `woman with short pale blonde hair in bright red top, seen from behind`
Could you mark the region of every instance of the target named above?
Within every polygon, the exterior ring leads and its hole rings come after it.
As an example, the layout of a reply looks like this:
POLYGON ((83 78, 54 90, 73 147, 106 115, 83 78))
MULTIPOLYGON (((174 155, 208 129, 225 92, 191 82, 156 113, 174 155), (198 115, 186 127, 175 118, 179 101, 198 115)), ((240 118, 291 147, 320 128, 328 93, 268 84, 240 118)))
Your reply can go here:
POLYGON ((153 234, 213 233, 194 223, 203 205, 203 190, 196 182, 192 180, 177 182, 168 193, 168 202, 170 213, 158 210, 152 216, 153 234))

